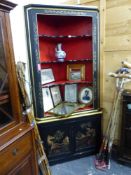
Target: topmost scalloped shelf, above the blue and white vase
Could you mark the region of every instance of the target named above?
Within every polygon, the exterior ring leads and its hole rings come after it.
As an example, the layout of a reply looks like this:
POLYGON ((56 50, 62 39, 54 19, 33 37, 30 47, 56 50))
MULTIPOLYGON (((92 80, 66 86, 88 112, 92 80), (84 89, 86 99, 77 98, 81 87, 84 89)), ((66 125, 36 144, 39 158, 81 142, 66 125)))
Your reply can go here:
POLYGON ((92 35, 86 34, 86 35, 45 35, 41 34, 38 35, 39 38, 45 38, 45 39, 79 39, 79 38, 91 38, 92 35))

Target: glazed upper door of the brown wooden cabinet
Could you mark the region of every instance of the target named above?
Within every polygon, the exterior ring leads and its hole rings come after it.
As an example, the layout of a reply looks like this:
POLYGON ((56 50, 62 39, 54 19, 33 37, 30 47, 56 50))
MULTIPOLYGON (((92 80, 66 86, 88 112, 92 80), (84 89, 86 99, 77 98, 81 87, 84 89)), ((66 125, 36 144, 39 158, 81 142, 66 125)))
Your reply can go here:
POLYGON ((0 11, 0 133, 20 118, 14 55, 8 13, 0 11))

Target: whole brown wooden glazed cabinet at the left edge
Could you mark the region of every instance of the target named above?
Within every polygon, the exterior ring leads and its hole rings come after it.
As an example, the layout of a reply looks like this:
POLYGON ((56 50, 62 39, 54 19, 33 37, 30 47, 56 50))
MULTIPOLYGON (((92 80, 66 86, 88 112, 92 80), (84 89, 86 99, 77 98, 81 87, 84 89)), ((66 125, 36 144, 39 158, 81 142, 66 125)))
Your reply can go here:
POLYGON ((37 175, 33 127, 22 121, 9 12, 0 1, 0 175, 37 175))

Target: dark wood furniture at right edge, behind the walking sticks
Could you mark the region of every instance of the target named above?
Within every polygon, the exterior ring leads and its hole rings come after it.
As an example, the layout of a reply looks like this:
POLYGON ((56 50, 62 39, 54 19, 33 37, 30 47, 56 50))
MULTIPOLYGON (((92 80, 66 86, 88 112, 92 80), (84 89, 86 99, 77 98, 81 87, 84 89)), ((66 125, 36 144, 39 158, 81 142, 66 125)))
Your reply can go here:
POLYGON ((118 160, 131 165, 131 91, 122 94, 122 122, 118 160))

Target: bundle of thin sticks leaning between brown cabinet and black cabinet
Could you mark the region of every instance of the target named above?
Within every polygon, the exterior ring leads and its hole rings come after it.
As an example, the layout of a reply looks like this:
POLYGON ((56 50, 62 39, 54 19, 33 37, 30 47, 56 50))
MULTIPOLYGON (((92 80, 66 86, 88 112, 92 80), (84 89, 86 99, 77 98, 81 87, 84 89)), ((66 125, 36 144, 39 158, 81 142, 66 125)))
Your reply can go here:
POLYGON ((44 148, 43 148, 42 141, 39 135, 38 127, 37 127, 35 117, 33 114, 33 107, 30 103, 29 96, 25 88, 24 65, 22 62, 17 63, 17 76, 18 76, 18 83, 20 86, 20 92, 23 98, 23 104, 26 110, 25 113, 28 117, 30 124, 34 126, 36 150, 37 150, 38 164, 39 164, 40 170, 43 175, 51 175, 49 163, 48 163, 46 154, 44 152, 44 148))

